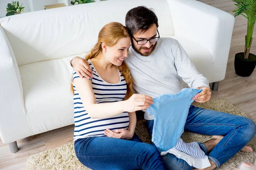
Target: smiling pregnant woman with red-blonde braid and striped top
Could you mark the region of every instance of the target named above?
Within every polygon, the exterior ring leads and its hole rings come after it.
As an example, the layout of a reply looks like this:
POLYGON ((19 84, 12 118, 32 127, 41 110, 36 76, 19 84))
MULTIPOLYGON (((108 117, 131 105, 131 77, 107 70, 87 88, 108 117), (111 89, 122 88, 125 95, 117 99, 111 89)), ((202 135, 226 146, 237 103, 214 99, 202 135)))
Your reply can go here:
POLYGON ((93 170, 163 170, 156 147, 134 134, 135 111, 148 108, 153 99, 132 93, 132 79, 124 59, 131 38, 120 23, 109 23, 86 56, 93 78, 73 72, 76 156, 93 170))

